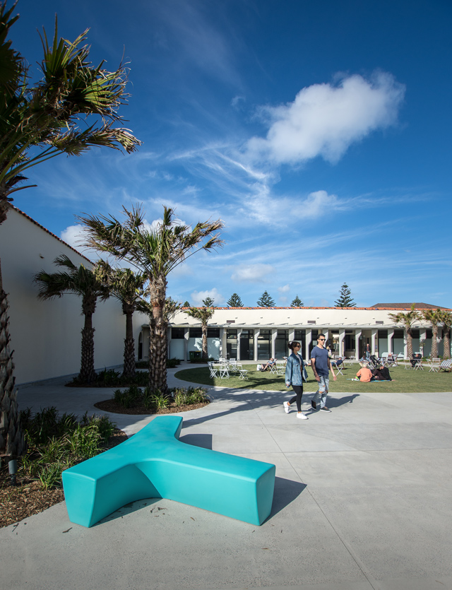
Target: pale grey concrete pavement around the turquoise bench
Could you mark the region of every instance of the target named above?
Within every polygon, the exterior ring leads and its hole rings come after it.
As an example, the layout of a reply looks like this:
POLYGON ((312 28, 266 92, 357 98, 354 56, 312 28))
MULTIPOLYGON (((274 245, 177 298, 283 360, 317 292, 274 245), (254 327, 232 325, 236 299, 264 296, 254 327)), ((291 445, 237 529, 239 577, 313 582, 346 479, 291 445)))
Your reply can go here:
MULTIPOLYGON (((179 370, 179 369, 177 369, 179 370)), ((169 384, 183 384, 169 370, 169 384)), ((186 385, 186 384, 185 384, 186 385)), ((92 529, 64 502, 0 529, 8 590, 452 589, 452 394, 334 394, 285 414, 281 392, 215 388, 181 440, 276 465, 270 518, 252 526, 141 500, 92 529)), ((332 384, 334 389, 334 384, 332 384)), ((284 391, 283 391, 284 390, 284 391)), ((79 415, 111 390, 24 387, 20 407, 79 415)), ((129 435, 152 416, 112 414, 129 435)))

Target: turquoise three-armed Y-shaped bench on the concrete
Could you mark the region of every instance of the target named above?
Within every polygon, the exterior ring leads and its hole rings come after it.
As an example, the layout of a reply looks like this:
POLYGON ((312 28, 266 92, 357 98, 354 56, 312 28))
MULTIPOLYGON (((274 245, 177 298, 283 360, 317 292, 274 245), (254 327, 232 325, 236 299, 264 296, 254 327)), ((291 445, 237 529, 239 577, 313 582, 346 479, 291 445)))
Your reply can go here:
POLYGON ((180 416, 157 416, 113 449, 63 471, 71 522, 93 526, 143 498, 166 498, 260 525, 270 514, 275 466, 179 441, 180 416))

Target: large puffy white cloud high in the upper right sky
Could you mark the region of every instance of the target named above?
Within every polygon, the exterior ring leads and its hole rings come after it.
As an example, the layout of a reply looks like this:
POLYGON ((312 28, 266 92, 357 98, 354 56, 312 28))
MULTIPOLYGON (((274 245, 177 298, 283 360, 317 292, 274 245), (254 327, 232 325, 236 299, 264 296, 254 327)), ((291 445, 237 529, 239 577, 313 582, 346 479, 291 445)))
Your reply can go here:
POLYGON ((254 160, 302 163, 321 155, 335 163, 355 141, 396 123, 405 86, 378 72, 370 81, 354 75, 337 85, 303 88, 295 101, 262 109, 270 122, 266 138, 247 143, 254 160))

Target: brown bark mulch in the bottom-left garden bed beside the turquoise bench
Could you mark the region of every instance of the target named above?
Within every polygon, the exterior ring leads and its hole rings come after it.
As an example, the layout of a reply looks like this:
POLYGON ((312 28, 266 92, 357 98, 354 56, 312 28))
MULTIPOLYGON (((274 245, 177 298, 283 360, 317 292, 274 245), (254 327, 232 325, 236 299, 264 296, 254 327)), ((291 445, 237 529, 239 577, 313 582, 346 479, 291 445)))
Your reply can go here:
MULTIPOLYGON (((105 445, 105 450, 127 440, 122 430, 115 430, 105 445)), ((64 501, 63 488, 43 490, 40 481, 18 476, 17 487, 9 485, 8 465, 0 470, 0 528, 31 517, 54 504, 64 501)))

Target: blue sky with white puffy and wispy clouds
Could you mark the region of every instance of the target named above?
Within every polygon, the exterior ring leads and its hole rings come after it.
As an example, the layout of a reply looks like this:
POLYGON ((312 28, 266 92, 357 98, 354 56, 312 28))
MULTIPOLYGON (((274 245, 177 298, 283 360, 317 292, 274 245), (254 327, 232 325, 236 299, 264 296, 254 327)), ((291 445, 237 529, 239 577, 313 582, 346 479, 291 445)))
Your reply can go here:
POLYGON ((129 61, 125 126, 138 153, 95 149, 30 169, 14 204, 76 245, 74 215, 162 205, 221 218, 225 246, 169 276, 191 305, 238 293, 331 306, 452 307, 448 0, 20 0, 13 46, 37 29, 94 62, 129 61))

